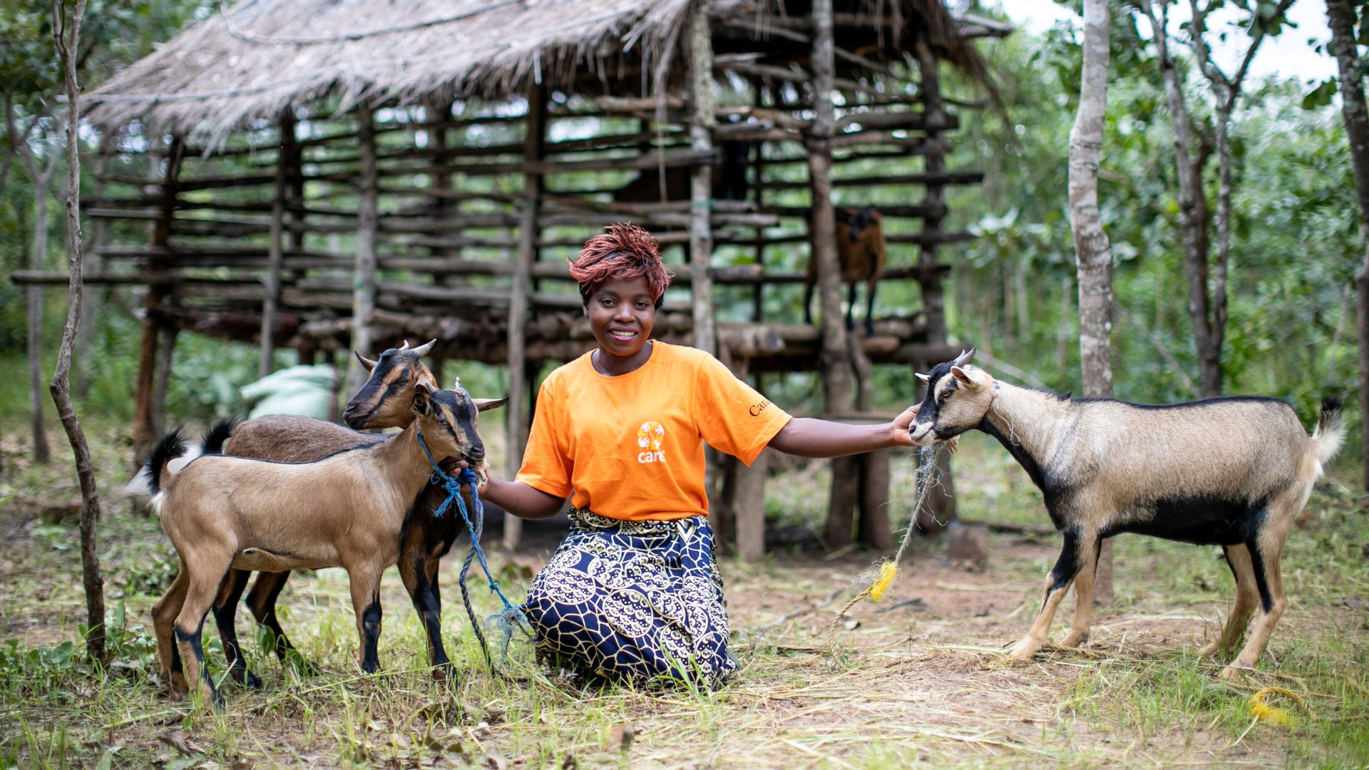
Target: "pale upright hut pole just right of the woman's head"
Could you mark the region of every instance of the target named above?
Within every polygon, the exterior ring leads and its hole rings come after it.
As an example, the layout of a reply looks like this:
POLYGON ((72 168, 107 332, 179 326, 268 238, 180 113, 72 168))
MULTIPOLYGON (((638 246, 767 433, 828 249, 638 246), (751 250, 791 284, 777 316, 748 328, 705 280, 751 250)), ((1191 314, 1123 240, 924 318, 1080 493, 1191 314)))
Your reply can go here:
MULTIPOLYGON (((713 38, 709 26, 712 0, 694 0, 690 12, 690 149, 713 149, 713 38)), ((689 263, 693 282, 694 347, 717 352, 713 332, 713 281, 709 260, 713 256, 713 167, 695 163, 690 174, 689 263)))

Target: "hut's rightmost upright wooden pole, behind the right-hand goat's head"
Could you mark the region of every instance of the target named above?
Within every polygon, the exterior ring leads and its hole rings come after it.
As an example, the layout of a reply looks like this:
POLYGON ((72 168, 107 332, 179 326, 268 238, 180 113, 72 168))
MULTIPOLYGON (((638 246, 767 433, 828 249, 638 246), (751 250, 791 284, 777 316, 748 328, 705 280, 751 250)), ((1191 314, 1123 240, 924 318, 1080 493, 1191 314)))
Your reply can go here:
MULTIPOLYGON (((941 97, 941 78, 936 75, 936 56, 925 40, 916 44, 917 67, 921 74, 923 114, 925 116, 927 140, 930 149, 925 155, 925 171, 931 179, 939 179, 946 171, 945 142, 941 141, 942 130, 950 125, 941 97)), ((924 233, 939 233, 942 216, 946 211, 943 203, 945 186, 930 181, 927 184, 927 197, 923 200, 928 216, 923 221, 924 233)), ((942 273, 935 271, 936 240, 924 241, 917 255, 919 266, 924 273, 919 280, 923 289, 923 308, 927 314, 927 344, 946 345, 946 299, 942 286, 942 273)), ((941 362, 919 362, 919 371, 930 371, 931 366, 941 362)), ((927 493, 927 504, 917 511, 917 525, 921 533, 936 536, 945 525, 956 518, 954 486, 950 477, 950 452, 942 452, 936 463, 941 469, 942 484, 927 493), (938 523, 939 522, 939 523, 938 523)))

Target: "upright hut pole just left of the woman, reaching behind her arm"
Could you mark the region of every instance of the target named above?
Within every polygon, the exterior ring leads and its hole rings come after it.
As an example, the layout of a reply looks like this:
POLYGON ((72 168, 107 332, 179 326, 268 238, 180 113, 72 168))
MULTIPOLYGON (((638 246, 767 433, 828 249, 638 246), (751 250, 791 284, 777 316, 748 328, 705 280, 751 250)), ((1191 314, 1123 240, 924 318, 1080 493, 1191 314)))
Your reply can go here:
MULTIPOLYGON (((542 159, 546 140, 546 86, 533 85, 527 92, 527 134, 523 138, 523 156, 542 159)), ((513 478, 523 464, 523 443, 527 440, 527 412, 523 406, 527 397, 527 319, 531 301, 533 263, 537 260, 538 208, 542 201, 542 174, 528 171, 523 175, 523 211, 519 212, 517 262, 513 270, 513 290, 509 296, 508 364, 509 403, 508 407, 508 470, 505 478, 513 478)), ((504 517, 504 545, 515 549, 523 537, 523 519, 504 517)))

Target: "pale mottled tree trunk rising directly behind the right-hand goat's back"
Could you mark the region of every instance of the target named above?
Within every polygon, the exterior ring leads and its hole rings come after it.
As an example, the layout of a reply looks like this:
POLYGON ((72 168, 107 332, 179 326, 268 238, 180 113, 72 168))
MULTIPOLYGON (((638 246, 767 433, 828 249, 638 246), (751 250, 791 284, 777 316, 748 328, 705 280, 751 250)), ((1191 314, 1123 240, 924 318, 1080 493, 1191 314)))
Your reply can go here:
MULTIPOLYGON (((1086 396, 1112 396, 1112 244, 1098 215, 1098 166, 1108 115, 1108 0, 1084 0, 1083 78, 1069 132, 1069 225, 1079 270, 1079 360, 1086 396)), ((1112 603, 1112 543, 1098 559, 1095 599, 1112 603)))

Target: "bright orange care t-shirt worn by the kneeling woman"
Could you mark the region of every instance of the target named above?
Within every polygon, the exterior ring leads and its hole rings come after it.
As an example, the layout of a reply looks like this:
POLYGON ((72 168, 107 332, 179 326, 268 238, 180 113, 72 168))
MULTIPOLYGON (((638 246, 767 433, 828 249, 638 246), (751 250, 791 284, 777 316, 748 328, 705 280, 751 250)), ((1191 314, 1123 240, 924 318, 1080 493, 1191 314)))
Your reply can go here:
POLYGON ((553 371, 537 397, 517 481, 601 517, 708 514, 704 441, 750 464, 790 417, 717 359, 656 340, 646 363, 608 377, 590 353, 553 371))

